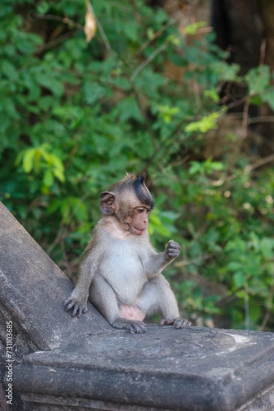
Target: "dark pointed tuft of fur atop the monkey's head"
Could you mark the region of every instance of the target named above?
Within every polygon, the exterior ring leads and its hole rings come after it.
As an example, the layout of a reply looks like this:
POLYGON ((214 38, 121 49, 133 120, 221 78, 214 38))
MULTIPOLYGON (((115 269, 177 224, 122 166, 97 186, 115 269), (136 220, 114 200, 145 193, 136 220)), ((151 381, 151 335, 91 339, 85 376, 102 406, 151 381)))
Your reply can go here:
POLYGON ((109 188, 110 191, 113 192, 122 192, 124 190, 133 190, 137 195, 137 198, 143 203, 144 205, 153 208, 154 207, 154 199, 146 186, 146 173, 131 173, 126 175, 120 182, 113 184, 109 188))

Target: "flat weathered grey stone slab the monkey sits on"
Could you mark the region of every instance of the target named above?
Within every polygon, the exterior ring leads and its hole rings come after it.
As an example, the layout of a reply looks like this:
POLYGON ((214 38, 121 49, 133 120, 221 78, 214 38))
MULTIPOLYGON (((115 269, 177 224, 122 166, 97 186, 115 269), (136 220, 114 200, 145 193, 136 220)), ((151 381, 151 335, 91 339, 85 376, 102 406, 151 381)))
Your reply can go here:
POLYGON ((233 411, 274 383, 273 364, 271 333, 148 325, 148 334, 85 336, 33 353, 15 377, 21 393, 86 404, 233 411))

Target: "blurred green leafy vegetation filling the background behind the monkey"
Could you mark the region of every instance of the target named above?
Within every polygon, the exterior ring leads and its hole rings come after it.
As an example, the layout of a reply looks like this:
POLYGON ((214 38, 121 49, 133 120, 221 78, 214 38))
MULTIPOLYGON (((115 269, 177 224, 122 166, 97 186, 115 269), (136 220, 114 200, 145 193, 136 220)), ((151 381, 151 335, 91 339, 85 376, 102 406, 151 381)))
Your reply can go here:
POLYGON ((273 15, 1 1, 0 199, 72 281, 100 191, 146 170, 152 243, 182 246, 165 275, 184 316, 274 329, 273 15))

